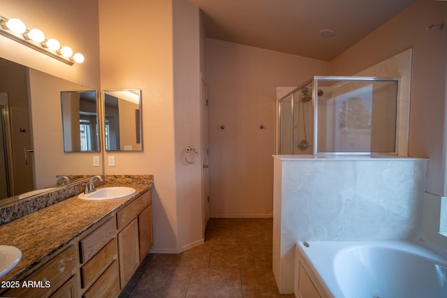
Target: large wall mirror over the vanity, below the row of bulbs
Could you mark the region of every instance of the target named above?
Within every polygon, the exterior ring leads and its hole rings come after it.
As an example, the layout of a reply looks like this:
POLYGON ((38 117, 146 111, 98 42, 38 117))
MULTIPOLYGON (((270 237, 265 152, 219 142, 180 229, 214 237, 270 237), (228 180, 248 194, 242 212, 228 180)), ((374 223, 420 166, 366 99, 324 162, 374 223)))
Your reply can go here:
MULTIPOLYGON (((58 175, 103 174, 101 152, 64 152, 61 91, 96 91, 0 58, 0 206, 55 186, 58 175), (3 133, 3 132, 7 133, 3 133), (99 158, 98 158, 99 157, 99 158), (5 191, 3 191, 5 190, 5 191), (13 198, 11 198, 13 197, 13 198)), ((78 111, 79 113, 79 111, 78 111)), ((85 112, 84 114, 87 114, 85 112)))

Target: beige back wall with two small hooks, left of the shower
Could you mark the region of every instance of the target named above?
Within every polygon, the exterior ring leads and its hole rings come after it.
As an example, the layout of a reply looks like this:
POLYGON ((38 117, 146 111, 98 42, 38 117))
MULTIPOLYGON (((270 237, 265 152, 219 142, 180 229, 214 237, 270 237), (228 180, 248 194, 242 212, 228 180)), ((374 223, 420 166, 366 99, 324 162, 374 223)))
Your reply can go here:
POLYGON ((272 216, 276 87, 328 75, 329 63, 214 39, 206 54, 210 216, 272 216))

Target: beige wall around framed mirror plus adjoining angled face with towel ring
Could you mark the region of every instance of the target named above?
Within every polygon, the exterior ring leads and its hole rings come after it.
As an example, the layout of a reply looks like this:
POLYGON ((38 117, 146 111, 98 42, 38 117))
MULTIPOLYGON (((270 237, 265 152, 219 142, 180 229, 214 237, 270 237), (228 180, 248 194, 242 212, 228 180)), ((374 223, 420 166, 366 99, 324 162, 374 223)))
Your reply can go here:
POLYGON ((105 153, 115 156, 105 174, 154 174, 153 251, 177 253, 203 241, 201 167, 184 163, 187 146, 200 148, 198 8, 184 0, 99 8, 102 89, 142 90, 144 151, 105 153))

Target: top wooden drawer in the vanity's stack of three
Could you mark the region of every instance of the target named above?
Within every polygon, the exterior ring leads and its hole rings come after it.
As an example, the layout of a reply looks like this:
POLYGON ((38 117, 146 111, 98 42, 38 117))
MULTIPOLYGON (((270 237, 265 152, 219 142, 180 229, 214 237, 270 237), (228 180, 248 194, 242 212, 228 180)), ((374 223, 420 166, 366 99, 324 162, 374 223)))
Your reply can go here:
POLYGON ((103 223, 94 232, 79 241, 79 258, 81 264, 90 260, 117 233, 115 216, 103 223))

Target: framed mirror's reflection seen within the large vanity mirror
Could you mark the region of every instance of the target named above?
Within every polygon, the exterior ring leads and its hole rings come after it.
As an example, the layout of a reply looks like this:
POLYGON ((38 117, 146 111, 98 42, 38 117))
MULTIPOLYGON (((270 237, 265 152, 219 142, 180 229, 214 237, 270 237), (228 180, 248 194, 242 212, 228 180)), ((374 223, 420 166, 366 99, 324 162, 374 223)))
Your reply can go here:
POLYGON ((64 152, 99 151, 96 91, 61 91, 64 152))

